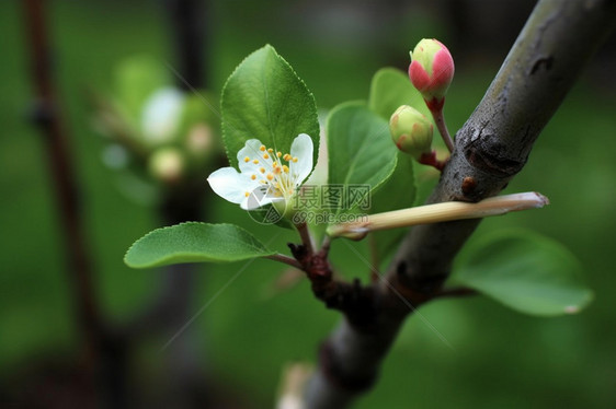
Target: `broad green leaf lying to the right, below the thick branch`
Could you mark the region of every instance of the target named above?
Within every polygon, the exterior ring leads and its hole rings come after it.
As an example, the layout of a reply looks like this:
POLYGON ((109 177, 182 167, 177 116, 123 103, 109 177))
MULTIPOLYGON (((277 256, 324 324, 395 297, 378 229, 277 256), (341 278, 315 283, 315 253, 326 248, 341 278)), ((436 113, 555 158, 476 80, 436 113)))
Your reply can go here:
POLYGON ((575 257, 559 243, 523 231, 497 232, 460 255, 452 281, 522 313, 577 313, 593 294, 575 257))

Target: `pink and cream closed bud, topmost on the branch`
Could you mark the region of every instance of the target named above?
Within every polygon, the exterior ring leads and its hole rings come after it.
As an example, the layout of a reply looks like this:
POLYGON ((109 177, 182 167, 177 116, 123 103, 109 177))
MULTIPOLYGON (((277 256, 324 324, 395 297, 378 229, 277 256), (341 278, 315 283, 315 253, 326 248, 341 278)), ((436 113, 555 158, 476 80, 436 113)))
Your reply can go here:
POLYGON ((422 39, 411 52, 409 78, 431 110, 443 107, 454 70, 449 50, 436 39, 422 39))

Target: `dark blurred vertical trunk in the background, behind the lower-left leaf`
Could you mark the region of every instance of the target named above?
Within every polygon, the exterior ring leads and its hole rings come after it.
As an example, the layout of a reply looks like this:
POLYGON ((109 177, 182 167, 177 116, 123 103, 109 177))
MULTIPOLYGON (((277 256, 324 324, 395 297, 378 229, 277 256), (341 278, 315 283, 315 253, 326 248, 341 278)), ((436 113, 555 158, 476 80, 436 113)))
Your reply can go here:
MULTIPOLYGON (((172 65, 176 65, 173 67, 173 73, 178 86, 186 93, 206 86, 206 7, 205 0, 166 1, 170 35, 173 39, 172 65)), ((206 212, 205 191, 205 175, 203 179, 190 178, 167 190, 159 208, 164 224, 202 220, 206 212)), ((192 302, 195 299, 197 268, 201 267, 174 265, 166 269, 166 290, 160 300, 168 314, 163 331, 175 332, 189 322, 192 302)), ((175 408, 199 407, 210 399, 195 341, 194 331, 189 329, 186 334, 173 340, 164 352, 169 388, 167 399, 168 404, 175 408)))

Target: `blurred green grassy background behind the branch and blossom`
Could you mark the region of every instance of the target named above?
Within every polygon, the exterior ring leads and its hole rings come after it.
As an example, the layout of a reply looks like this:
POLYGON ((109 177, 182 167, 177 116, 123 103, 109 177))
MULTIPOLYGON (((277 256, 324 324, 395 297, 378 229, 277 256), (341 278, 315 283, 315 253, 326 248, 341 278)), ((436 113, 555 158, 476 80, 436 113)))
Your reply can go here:
MULTIPOLYGON (((95 285, 105 316, 122 323, 161 285, 153 271, 130 270, 122 258, 133 241, 161 222, 153 209, 129 201, 116 188, 117 175, 101 161, 104 143, 92 130, 84 90, 109 89, 115 65, 135 54, 173 66, 170 24, 160 2, 48 3, 56 79, 83 194, 95 285)), ((241 59, 270 43, 327 109, 366 98, 378 68, 406 69, 409 48, 422 37, 437 37, 450 45, 456 60, 446 114, 449 127, 457 129, 498 71, 532 3, 522 2, 510 14, 491 14, 497 22, 486 17, 490 2, 465 2, 466 17, 453 3, 213 1, 208 87, 219 93, 241 59), (468 10, 483 14, 469 15, 468 10), (471 27, 472 19, 483 23, 471 27)), ((38 390, 31 389, 32 374, 46 362, 70 365, 79 349, 46 156, 41 136, 27 121, 33 87, 20 5, 0 2, 0 406, 38 390)), ((585 266, 595 301, 580 314, 560 318, 520 315, 480 296, 426 305, 421 313, 454 348, 411 317, 379 383, 358 408, 613 407, 616 84, 606 67, 614 67, 614 54, 613 46, 602 49, 506 189, 540 191, 551 206, 480 226, 522 226, 562 242, 585 266)), ((203 188, 212 195, 206 176, 203 188)), ((213 202, 208 221, 242 224, 281 250, 294 239, 289 232, 251 223, 233 204, 213 202)), ((344 244, 335 243, 333 253, 345 276, 367 279, 368 268, 344 244)), ((271 295, 283 270, 278 266, 256 260, 228 287, 242 264, 205 266, 194 288, 194 313, 216 296, 192 324, 201 352, 195 359, 249 408, 272 407, 283 366, 315 362, 317 346, 340 319, 313 300, 306 282, 271 295)), ((160 371, 166 352, 159 349, 168 339, 155 338, 130 358, 130 377, 146 394, 148 385, 166 382, 160 371)))

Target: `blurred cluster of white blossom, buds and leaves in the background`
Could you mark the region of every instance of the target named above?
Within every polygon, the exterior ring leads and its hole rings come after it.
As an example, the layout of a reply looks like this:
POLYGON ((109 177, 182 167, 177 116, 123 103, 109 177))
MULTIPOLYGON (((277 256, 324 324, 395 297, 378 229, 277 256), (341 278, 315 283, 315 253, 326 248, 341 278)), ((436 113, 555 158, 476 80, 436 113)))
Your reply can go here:
POLYGON ((142 202, 148 189, 155 201, 157 187, 201 180, 220 154, 217 98, 173 83, 162 60, 136 55, 114 67, 111 92, 91 90, 92 127, 107 142, 103 161, 118 171, 118 187, 142 202))

